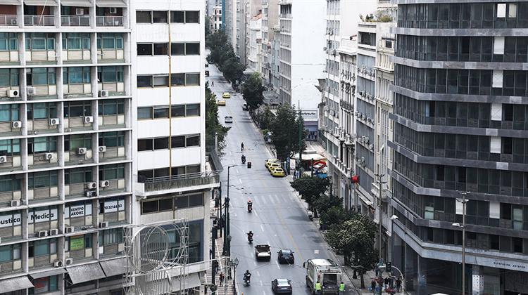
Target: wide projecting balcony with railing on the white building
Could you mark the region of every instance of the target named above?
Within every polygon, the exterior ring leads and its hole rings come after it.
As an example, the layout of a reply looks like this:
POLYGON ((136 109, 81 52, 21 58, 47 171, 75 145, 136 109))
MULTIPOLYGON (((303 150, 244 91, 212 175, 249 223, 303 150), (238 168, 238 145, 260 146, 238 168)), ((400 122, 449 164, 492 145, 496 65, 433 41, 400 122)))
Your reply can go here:
POLYGON ((148 196, 165 192, 175 192, 184 188, 201 186, 217 187, 220 183, 220 171, 203 173, 189 173, 177 176, 164 176, 149 178, 144 183, 138 183, 137 195, 148 196))

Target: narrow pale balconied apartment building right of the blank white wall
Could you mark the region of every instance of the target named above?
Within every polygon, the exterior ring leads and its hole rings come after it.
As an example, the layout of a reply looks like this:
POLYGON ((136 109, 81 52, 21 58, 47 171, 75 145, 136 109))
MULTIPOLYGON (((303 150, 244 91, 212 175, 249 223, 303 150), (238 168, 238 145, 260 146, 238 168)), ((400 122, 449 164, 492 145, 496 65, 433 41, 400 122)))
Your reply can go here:
POLYGON ((346 209, 351 209, 351 173, 353 172, 353 124, 346 124, 349 111, 353 114, 354 99, 347 102, 348 91, 356 89, 356 35, 358 34, 359 15, 375 10, 376 3, 371 0, 327 0, 326 1, 325 69, 322 76, 325 88, 322 89, 322 119, 320 140, 328 155, 329 175, 334 179, 333 191, 344 199, 346 209), (341 56, 346 62, 341 63, 341 56), (350 72, 351 60, 353 72, 350 72), (348 73, 346 73, 348 72, 348 73), (354 79, 352 79, 354 77, 354 79), (348 88, 347 88, 348 87, 348 88), (342 102, 342 104, 341 104, 342 102), (347 118, 341 118, 341 115, 347 118), (349 140, 347 140, 349 138, 349 140))

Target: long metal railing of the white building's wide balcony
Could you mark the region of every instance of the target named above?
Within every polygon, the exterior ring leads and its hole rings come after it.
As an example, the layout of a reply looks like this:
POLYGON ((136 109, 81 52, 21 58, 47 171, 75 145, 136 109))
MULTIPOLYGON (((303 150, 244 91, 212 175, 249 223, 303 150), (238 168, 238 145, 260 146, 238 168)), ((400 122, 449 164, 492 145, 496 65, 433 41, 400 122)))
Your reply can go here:
POLYGON ((203 173, 189 173, 178 176, 164 176, 149 178, 144 182, 144 191, 174 190, 196 185, 210 185, 220 183, 220 172, 209 171, 203 173))

